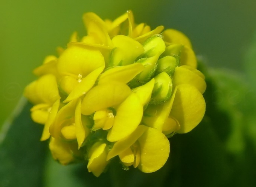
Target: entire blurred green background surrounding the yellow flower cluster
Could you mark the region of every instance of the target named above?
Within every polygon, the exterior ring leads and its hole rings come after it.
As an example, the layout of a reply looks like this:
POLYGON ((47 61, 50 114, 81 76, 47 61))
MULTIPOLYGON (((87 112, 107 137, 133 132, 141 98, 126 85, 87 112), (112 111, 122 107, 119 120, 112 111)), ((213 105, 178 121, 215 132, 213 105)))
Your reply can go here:
POLYGON ((88 11, 114 19, 131 9, 137 23, 182 31, 203 57, 199 59, 206 66, 200 70, 207 82, 205 118, 191 133, 170 139, 168 163, 152 174, 111 166, 98 180, 84 174, 85 165, 58 165, 45 154, 47 142, 37 141, 42 129, 32 123, 31 106, 26 105, 3 143, 0 132, 0 186, 12 186, 15 181, 38 187, 74 183, 80 187, 85 182, 111 186, 118 179, 134 187, 255 186, 255 7, 255 0, 0 0, 0 128, 24 87, 35 79, 32 70, 46 55, 56 54, 57 46, 65 47, 73 31, 85 34, 82 14, 88 11))

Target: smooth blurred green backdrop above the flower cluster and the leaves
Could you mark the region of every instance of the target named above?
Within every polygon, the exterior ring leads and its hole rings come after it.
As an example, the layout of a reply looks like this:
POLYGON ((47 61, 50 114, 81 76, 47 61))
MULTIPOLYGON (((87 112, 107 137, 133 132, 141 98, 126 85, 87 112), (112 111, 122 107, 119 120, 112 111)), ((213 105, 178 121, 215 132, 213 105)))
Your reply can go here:
POLYGON ((85 33, 84 12, 114 19, 131 9, 136 22, 184 32, 210 66, 241 72, 256 29, 255 7, 255 0, 1 0, 0 126, 35 79, 32 70, 65 46, 73 31, 85 33))

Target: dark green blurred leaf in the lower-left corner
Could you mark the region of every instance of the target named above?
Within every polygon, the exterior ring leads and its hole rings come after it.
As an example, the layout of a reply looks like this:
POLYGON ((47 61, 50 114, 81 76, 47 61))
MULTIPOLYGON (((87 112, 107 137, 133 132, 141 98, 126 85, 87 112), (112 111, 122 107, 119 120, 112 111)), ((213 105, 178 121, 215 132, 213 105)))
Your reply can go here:
POLYGON ((23 98, 15 118, 3 128, 9 127, 7 134, 0 133, 1 187, 43 186, 47 142, 39 141, 43 126, 30 119, 31 107, 23 98))

